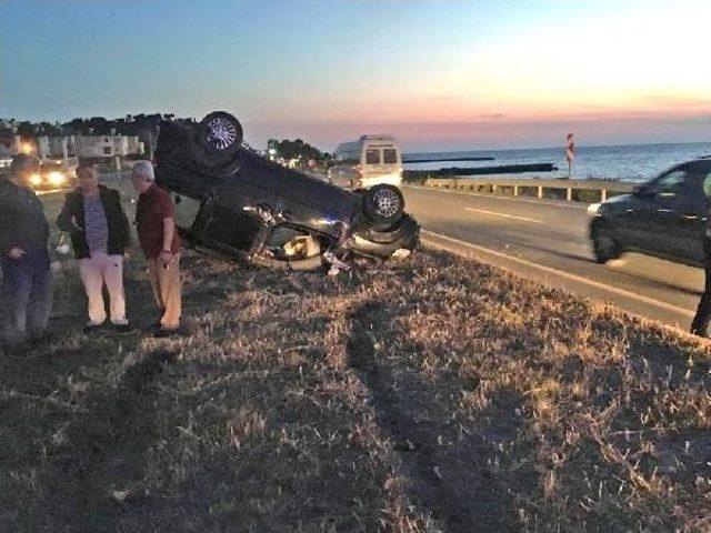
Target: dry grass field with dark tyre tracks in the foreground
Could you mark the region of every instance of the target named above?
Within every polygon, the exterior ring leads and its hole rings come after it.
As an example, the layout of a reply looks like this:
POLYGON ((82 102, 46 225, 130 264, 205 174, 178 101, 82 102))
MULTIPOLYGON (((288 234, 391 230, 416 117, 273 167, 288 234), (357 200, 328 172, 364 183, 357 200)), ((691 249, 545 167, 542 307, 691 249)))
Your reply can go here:
MULTIPOLYGON (((0 363, 0 531, 711 529, 702 341, 429 250, 184 271, 177 340, 83 335, 58 273, 0 363)), ((127 292, 147 325, 139 258, 127 292)))

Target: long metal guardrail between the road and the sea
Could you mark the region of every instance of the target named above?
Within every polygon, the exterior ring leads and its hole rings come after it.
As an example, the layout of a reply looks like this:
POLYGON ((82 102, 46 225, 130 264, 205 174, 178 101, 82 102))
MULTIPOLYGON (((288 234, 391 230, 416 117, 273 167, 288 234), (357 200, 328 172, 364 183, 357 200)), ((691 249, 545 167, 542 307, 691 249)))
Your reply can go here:
POLYGON ((558 200, 579 202, 604 202, 617 194, 632 192, 634 183, 605 180, 552 180, 535 178, 428 178, 425 187, 435 189, 457 189, 462 191, 491 194, 527 195, 535 198, 554 198, 558 200))

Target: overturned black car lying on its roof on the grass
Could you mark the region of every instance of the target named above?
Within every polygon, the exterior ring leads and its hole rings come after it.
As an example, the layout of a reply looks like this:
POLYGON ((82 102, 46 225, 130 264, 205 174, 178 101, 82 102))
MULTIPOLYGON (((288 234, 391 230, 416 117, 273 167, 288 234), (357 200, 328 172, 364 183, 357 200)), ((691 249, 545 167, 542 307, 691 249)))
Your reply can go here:
POLYGON ((156 172, 191 245, 251 263, 312 270, 407 255, 419 241, 398 188, 348 191, 286 169, 247 147, 222 111, 197 124, 163 122, 156 172))

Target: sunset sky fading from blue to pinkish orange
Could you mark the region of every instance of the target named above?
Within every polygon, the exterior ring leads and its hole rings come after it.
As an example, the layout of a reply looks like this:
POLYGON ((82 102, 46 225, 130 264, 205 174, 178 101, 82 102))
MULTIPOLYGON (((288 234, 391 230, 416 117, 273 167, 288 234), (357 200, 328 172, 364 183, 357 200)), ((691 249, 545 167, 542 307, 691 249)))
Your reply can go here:
POLYGON ((709 0, 0 0, 0 117, 213 109, 331 150, 711 141, 709 0))

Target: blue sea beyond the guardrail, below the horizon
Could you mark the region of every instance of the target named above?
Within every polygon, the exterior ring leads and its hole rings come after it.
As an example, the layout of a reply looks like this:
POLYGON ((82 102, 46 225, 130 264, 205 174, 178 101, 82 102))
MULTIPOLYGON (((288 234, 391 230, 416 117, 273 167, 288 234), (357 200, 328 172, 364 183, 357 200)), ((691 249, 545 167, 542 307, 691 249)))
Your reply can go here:
MULTIPOLYGON (((678 163, 711 155, 711 142, 683 144, 632 144, 619 147, 577 147, 572 164, 573 179, 647 181, 678 163)), ((504 164, 553 163, 555 172, 523 173, 524 177, 568 178, 564 148, 530 150, 471 150, 459 152, 413 152, 403 155, 405 170, 441 168, 498 167, 504 164), (494 158, 493 161, 451 161, 457 158, 494 158), (407 159, 437 159, 427 163, 408 163, 407 159)))

